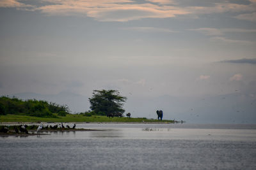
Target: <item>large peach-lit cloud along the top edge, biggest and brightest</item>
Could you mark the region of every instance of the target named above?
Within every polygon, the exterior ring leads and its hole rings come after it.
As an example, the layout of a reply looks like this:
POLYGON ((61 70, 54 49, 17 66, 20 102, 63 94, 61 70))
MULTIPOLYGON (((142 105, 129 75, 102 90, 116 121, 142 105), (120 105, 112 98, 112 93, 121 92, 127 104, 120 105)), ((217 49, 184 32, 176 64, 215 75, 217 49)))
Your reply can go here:
POLYGON ((159 6, 135 1, 49 1, 52 4, 41 6, 38 10, 48 15, 82 15, 99 21, 126 22, 141 18, 168 18, 187 14, 177 6, 159 6))

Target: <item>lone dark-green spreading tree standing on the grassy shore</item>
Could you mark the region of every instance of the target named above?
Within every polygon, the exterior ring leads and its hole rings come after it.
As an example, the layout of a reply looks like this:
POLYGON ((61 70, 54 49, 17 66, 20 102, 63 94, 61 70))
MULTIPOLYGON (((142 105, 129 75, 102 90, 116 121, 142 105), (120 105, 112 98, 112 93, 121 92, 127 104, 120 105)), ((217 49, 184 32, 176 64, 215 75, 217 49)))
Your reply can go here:
POLYGON ((89 98, 90 109, 97 115, 113 114, 121 117, 125 111, 122 106, 126 99, 127 97, 120 96, 118 90, 93 90, 93 96, 89 98))

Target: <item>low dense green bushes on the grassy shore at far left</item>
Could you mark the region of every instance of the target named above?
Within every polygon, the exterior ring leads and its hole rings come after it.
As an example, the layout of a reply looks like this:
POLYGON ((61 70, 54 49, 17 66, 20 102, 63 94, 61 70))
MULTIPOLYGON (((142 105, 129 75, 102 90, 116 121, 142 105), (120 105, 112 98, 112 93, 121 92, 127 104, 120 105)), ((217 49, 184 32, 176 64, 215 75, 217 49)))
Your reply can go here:
POLYGON ((53 113, 58 113, 58 116, 66 116, 69 113, 68 106, 59 105, 56 103, 47 103, 47 101, 37 101, 29 99, 22 101, 16 97, 0 97, 0 115, 28 115, 33 117, 57 117, 53 113))

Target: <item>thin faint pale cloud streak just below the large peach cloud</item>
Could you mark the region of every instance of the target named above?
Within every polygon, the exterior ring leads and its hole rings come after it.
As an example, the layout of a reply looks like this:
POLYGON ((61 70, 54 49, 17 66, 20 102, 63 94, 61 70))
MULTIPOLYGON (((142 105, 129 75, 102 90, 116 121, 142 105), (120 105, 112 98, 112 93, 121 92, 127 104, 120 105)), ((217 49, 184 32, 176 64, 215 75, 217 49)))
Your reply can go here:
POLYGON ((157 27, 126 27, 122 28, 125 30, 131 30, 131 31, 140 31, 140 32, 179 32, 179 31, 173 31, 171 29, 164 29, 164 28, 157 28, 157 27))

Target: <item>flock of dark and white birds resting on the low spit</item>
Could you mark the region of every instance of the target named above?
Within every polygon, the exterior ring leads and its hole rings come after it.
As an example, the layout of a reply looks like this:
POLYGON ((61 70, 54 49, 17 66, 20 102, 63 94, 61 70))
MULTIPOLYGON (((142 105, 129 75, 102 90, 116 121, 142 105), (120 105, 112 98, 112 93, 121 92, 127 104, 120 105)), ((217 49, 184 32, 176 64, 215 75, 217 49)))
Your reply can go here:
MULTIPOLYGON (((9 126, 10 127, 10 126, 9 126)), ((9 131, 9 127, 1 127, 0 128, 0 132, 3 132, 3 133, 7 133, 8 131, 9 131)), ((20 133, 20 132, 24 132, 24 133, 26 133, 26 134, 28 134, 28 127, 29 127, 29 129, 36 129, 36 127, 37 127, 37 125, 31 125, 31 126, 28 126, 28 125, 24 125, 24 124, 22 124, 22 125, 15 125, 14 127, 13 127, 13 129, 14 129, 14 131, 18 134, 18 133, 20 133)), ((40 134, 40 131, 42 130, 42 129, 75 129, 76 128, 76 124, 74 124, 73 125, 73 127, 70 127, 69 125, 66 125, 66 127, 63 125, 63 123, 61 123, 61 124, 56 124, 56 125, 44 125, 44 124, 40 124, 38 127, 37 127, 37 129, 36 129, 36 133, 39 133, 40 134)))

